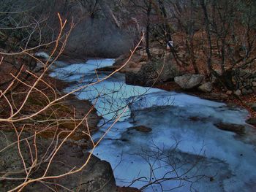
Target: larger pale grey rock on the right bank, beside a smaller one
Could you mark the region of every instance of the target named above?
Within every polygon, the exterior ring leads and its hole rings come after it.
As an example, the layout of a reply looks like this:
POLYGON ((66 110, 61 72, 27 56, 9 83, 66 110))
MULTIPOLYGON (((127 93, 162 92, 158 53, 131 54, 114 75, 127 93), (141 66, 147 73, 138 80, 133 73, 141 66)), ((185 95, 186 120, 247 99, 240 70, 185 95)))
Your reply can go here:
POLYGON ((175 77, 175 82, 183 89, 197 88, 203 81, 203 74, 184 74, 180 77, 175 77))

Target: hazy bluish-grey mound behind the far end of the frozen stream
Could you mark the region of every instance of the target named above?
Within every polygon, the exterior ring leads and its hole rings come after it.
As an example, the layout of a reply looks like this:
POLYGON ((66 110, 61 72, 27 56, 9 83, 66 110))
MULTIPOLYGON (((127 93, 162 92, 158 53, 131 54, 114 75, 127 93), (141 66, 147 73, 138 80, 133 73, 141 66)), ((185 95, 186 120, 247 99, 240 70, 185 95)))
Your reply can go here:
POLYGON ((129 53, 134 45, 134 38, 133 34, 116 28, 109 20, 86 17, 73 28, 64 54, 76 58, 117 58, 129 53))

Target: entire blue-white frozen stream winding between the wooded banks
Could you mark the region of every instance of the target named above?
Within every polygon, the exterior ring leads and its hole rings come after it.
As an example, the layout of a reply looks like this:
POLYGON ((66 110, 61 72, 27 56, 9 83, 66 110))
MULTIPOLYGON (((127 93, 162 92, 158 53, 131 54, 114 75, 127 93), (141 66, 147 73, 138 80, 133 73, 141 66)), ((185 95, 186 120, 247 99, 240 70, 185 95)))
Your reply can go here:
MULTIPOLYGON (((95 74, 94 69, 113 62, 60 62, 62 67, 51 75, 75 82, 70 91, 108 76, 107 72, 95 74)), ((246 110, 183 93, 126 85, 124 74, 114 74, 77 96, 97 101, 103 119, 95 140, 123 114, 94 150, 94 155, 110 162, 117 185, 133 182, 132 187, 143 191, 256 191, 256 132, 245 123, 246 110), (246 134, 219 130, 214 126, 219 122, 246 125, 246 134), (152 131, 139 132, 134 126, 152 131)))

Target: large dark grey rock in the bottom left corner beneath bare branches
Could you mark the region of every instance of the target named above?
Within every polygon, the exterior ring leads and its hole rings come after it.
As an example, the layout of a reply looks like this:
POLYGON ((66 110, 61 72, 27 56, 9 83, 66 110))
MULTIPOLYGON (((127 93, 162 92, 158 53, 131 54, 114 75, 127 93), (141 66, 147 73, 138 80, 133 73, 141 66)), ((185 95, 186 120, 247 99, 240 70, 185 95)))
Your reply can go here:
MULTIPOLYGON (((23 137, 30 136, 29 133, 25 132, 22 135, 23 137)), ((2 131, 0 133, 0 150, 11 142, 14 142, 15 139, 15 133, 2 131)), ((34 137, 31 137, 31 139, 28 140, 31 145, 32 153, 34 153, 33 139, 34 137)), ((51 145, 50 139, 48 140, 37 137, 37 159, 39 161, 41 161, 44 155, 48 156, 50 155, 50 152, 54 150, 55 142, 53 143, 54 145, 51 145), (48 153, 46 153, 47 151, 48 153)), ((25 162, 27 162, 27 166, 29 166, 31 164, 31 155, 29 153, 29 147, 25 141, 20 142, 20 149, 25 162)), ((33 155, 35 156, 35 154, 33 155)), ((50 164, 48 169, 47 176, 56 176, 70 172, 72 169, 78 169, 83 166, 88 158, 89 153, 83 153, 83 150, 81 150, 78 145, 75 145, 73 142, 65 142, 53 158, 52 164, 50 164)), ((42 164, 39 164, 37 169, 33 169, 30 178, 42 177, 46 167, 48 166, 48 162, 48 160, 42 161, 42 164)), ((2 176, 1 172, 10 172, 8 176, 13 178, 24 177, 24 173, 19 172, 20 170, 23 170, 23 164, 20 160, 17 145, 12 145, 7 148, 7 150, 0 152, 0 165, 0 177, 2 176), (12 172, 18 173, 12 174, 12 172)), ((110 164, 106 161, 101 161, 94 155, 91 155, 89 163, 86 164, 80 172, 45 181, 49 183, 58 183, 72 191, 116 191, 116 181, 110 164)), ((18 180, 1 180, 1 184, 4 185, 4 189, 6 191, 9 191, 19 185, 20 182, 18 180)), ((66 191, 55 184, 50 185, 50 187, 58 188, 58 191, 66 191)), ((42 183, 31 183, 31 185, 27 185, 23 191, 50 191, 50 189, 45 185, 42 185, 42 183)))

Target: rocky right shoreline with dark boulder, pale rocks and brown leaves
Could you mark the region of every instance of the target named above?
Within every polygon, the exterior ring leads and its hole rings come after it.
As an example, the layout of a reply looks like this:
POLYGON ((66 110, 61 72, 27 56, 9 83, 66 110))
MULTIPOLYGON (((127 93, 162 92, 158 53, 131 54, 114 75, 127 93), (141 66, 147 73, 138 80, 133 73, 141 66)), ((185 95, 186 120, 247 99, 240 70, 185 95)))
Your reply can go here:
MULTIPOLYGON (((170 55, 167 55, 168 57, 170 55)), ((122 66, 125 61, 127 61, 127 55, 121 55, 119 58, 116 58, 116 63, 113 66, 97 69, 97 71, 113 72, 122 66)), ((243 86, 246 83, 249 83, 250 88, 253 89, 252 85, 254 84, 252 82, 254 79, 252 77, 254 78, 255 74, 241 72, 241 74, 245 75, 241 77, 239 74, 241 78, 233 81, 237 81, 237 85, 241 85, 242 87, 238 87, 238 90, 233 93, 232 91, 214 86, 214 83, 216 83, 214 78, 206 80, 203 74, 186 74, 176 64, 173 64, 169 68, 165 65, 162 64, 161 66, 159 61, 148 61, 145 53, 135 53, 132 60, 120 72, 125 74, 126 82, 129 85, 160 88, 165 91, 187 93, 202 99, 225 102, 231 105, 236 104, 238 107, 245 108, 249 111, 251 117, 246 122, 256 127, 256 110, 252 107, 256 104, 255 94, 246 94, 247 92, 243 91, 243 86), (249 77, 249 80, 246 80, 245 77, 249 77), (245 83, 241 83, 241 81, 245 83)))

